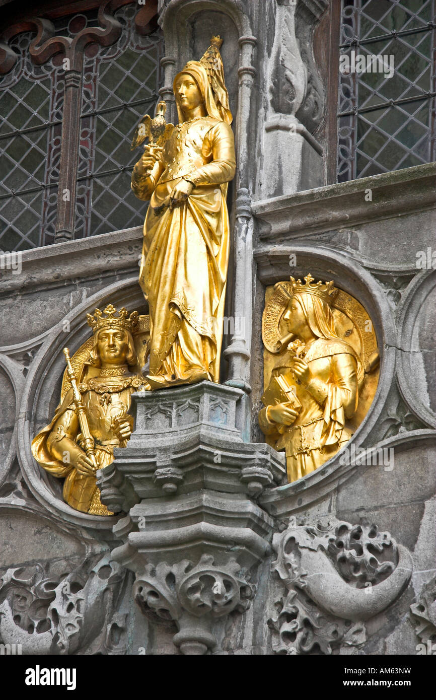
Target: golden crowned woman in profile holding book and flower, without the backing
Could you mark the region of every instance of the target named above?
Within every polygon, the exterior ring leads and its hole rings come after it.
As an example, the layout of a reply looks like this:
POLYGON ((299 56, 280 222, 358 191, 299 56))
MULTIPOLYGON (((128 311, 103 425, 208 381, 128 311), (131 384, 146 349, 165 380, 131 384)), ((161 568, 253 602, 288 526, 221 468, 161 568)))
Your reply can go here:
MULTIPOLYGON (((290 278, 283 321, 293 340, 272 370, 259 424, 286 451, 288 480, 313 472, 351 438, 365 372, 358 353, 337 335, 333 282, 290 278)), ((289 339, 289 338, 288 338, 289 339)))

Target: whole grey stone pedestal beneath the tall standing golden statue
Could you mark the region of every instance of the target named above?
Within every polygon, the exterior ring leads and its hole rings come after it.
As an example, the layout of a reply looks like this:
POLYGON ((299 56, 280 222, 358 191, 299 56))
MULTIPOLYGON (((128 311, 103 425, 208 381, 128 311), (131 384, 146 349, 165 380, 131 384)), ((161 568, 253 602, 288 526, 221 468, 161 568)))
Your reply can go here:
POLYGON ((103 503, 127 512, 113 559, 136 574, 141 610, 176 622, 183 654, 206 653, 213 620, 246 610, 271 551, 273 520, 255 499, 283 481, 284 460, 244 442, 246 400, 208 381, 134 394, 129 446, 98 474, 103 503))

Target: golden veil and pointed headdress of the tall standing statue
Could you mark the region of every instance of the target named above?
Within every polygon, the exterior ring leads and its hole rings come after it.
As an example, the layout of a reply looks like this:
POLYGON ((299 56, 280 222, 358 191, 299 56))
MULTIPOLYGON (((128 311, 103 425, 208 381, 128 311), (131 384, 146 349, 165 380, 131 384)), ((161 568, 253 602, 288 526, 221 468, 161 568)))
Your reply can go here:
MULTIPOLYGON (((199 61, 188 61, 183 70, 177 73, 173 85, 181 73, 189 73, 199 86, 204 98, 204 106, 210 117, 219 119, 226 124, 232 123, 232 113, 229 107, 229 94, 225 87, 223 60, 220 46, 223 39, 219 36, 211 38, 211 45, 199 61)), ((177 105, 178 120, 183 121, 183 114, 177 105)))

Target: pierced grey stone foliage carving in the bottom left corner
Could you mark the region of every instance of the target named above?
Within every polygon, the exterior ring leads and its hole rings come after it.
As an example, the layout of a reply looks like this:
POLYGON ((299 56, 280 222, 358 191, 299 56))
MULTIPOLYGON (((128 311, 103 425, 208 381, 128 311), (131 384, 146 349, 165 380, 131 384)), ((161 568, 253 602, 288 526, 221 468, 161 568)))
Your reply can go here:
POLYGON ((9 568, 0 579, 1 643, 24 654, 125 654, 127 615, 117 612, 125 576, 108 554, 9 568))

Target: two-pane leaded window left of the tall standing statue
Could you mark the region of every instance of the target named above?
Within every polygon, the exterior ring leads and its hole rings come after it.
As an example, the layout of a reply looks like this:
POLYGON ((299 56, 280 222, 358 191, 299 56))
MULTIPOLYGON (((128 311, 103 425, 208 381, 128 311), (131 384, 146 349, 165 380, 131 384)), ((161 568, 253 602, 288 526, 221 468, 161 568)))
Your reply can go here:
MULTIPOLYGON (((85 27, 97 27, 98 5, 52 20, 55 35, 74 38, 85 27)), ((122 29, 113 45, 92 43, 85 48, 76 238, 143 221, 143 209, 130 190, 130 172, 140 153, 130 151, 130 142, 138 120, 152 113, 157 101, 164 48, 157 25, 146 36, 137 31, 135 17, 140 9, 138 3, 130 2, 114 13, 122 29)), ((13 69, 0 76, 0 251, 55 241, 64 55, 57 53, 36 66, 29 55, 35 36, 25 32, 9 41, 18 58, 13 69)), ((69 139, 69 130, 65 132, 69 139)))

